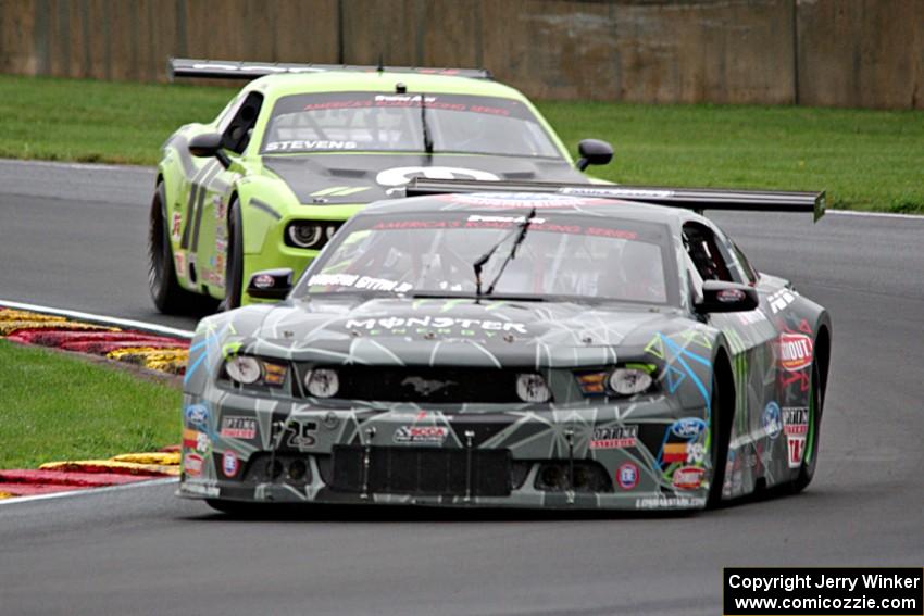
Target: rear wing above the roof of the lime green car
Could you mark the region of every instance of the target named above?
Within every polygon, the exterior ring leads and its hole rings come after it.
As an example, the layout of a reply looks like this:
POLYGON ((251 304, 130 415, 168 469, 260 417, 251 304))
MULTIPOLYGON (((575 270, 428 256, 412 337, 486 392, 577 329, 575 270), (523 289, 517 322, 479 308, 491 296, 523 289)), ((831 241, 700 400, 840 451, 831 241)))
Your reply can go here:
POLYGON ((486 68, 427 68, 421 66, 364 66, 359 64, 286 64, 282 62, 238 62, 235 60, 192 60, 189 58, 170 58, 167 76, 173 81, 177 77, 197 79, 257 79, 265 75, 327 73, 329 71, 352 71, 357 73, 419 73, 423 75, 448 75, 473 79, 491 79, 486 68))

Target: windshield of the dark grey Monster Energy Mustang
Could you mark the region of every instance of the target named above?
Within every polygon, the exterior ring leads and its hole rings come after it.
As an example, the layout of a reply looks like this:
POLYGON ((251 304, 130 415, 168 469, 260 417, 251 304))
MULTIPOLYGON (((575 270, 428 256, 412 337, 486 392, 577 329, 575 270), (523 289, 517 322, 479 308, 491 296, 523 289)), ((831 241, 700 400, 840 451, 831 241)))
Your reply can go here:
POLYGON ((619 300, 677 305, 674 260, 664 225, 539 211, 515 256, 529 210, 360 216, 335 237, 295 291, 474 297, 473 264, 490 297, 619 300))

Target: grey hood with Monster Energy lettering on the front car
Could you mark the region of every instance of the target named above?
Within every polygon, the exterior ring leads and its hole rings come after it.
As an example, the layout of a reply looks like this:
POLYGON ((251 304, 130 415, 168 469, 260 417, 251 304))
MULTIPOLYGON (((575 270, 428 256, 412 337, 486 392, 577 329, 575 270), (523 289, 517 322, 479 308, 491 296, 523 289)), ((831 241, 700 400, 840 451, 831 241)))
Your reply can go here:
POLYGON ((536 368, 613 364, 625 353, 638 356, 659 331, 697 325, 675 309, 357 297, 254 305, 222 316, 247 352, 266 356, 536 368))

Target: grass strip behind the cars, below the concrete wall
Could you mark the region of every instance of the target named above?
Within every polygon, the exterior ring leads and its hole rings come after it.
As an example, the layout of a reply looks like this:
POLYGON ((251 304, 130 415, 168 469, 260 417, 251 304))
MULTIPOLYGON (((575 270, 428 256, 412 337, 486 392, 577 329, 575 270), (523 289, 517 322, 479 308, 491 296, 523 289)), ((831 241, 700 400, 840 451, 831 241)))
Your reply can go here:
MULTIPOLYGON (((154 164, 179 125, 209 121, 235 90, 0 76, 0 156, 154 164)), ((835 208, 924 212, 924 113, 795 106, 541 102, 574 152, 623 184, 820 190, 835 208)))

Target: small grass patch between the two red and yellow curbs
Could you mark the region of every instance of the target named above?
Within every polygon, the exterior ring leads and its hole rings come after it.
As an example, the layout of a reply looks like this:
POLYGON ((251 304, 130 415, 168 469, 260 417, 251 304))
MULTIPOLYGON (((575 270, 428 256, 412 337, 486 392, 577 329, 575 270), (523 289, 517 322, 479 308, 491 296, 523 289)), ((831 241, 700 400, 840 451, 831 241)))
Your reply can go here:
POLYGON ((0 340, 0 468, 179 442, 180 392, 111 366, 0 340))

